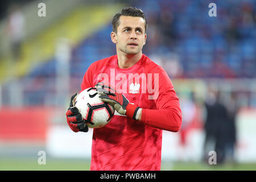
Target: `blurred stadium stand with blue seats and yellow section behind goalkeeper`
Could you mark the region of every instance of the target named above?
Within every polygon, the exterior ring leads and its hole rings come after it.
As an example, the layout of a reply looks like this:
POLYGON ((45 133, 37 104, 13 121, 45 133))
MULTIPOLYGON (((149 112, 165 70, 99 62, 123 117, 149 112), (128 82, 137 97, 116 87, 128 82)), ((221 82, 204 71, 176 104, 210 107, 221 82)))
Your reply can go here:
MULTIPOLYGON (((183 72, 170 75, 172 78, 255 78, 255 1, 218 2, 217 18, 208 16, 208 3, 166 0, 135 2, 135 7, 143 6, 148 19, 148 39, 143 53, 166 56, 163 64, 171 61, 168 59, 170 53, 177 55, 183 72)), ((73 88, 79 90, 81 78, 89 65, 115 54, 115 46, 110 40, 110 19, 117 9, 113 7, 113 11, 106 13, 103 9, 80 8, 46 30, 44 34, 48 37, 42 35, 34 41, 42 42, 43 52, 38 53, 41 61, 31 69, 32 60, 27 55, 27 61, 20 67, 22 69, 18 68, 23 73, 20 73, 21 80, 30 78, 31 85, 34 82, 41 85, 38 88, 31 86, 31 89, 26 89, 27 92, 25 90, 25 97, 37 96, 36 100, 25 99, 27 104, 43 104, 43 98, 38 96, 44 97, 45 94, 39 93, 55 92, 55 42, 50 41, 53 36, 49 35, 57 35, 67 28, 65 37, 75 42, 70 60, 70 76, 73 88), (102 19, 99 13, 107 14, 108 18, 102 19), (85 16, 90 17, 86 23, 85 16)), ((31 43, 27 49, 31 50, 34 46, 31 43)))

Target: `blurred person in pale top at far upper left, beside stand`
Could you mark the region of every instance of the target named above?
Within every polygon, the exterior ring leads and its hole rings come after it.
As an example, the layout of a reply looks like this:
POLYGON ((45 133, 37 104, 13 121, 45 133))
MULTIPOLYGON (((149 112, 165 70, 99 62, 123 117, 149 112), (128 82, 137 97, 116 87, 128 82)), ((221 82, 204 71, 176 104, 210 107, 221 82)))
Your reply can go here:
POLYGON ((14 61, 20 58, 20 46, 24 37, 25 20, 22 10, 18 5, 13 4, 9 9, 7 35, 10 39, 11 51, 14 61))

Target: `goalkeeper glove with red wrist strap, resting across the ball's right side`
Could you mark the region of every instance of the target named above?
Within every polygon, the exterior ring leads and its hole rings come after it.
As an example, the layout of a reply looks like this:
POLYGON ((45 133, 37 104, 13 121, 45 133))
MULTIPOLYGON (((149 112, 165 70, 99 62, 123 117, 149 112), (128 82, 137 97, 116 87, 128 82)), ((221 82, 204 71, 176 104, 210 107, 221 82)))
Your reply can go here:
POLYGON ((134 104, 130 104, 129 100, 123 94, 115 92, 108 85, 104 85, 102 82, 98 82, 96 85, 96 92, 100 95, 99 98, 103 102, 107 102, 112 105, 119 114, 127 115, 130 118, 136 119, 136 115, 140 107, 134 104))

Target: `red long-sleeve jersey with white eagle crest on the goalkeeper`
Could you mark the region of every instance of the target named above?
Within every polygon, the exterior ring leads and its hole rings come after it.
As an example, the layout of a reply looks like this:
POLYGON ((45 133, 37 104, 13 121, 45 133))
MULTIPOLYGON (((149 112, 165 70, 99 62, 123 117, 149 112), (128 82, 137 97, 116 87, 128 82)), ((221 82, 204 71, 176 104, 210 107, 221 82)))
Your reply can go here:
POLYGON ((99 81, 141 107, 142 121, 115 111, 108 125, 94 129, 90 169, 160 170, 162 130, 181 127, 179 98, 167 73, 144 54, 132 67, 121 69, 114 55, 90 65, 81 91, 99 81))

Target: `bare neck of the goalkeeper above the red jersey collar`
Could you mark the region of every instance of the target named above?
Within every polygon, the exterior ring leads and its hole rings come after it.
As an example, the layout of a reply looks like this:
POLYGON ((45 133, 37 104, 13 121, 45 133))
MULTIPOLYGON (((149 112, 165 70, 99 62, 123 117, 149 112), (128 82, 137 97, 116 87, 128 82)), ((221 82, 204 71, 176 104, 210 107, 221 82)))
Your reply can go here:
POLYGON ((139 52, 135 55, 128 55, 122 53, 117 53, 117 59, 118 59, 118 67, 121 69, 127 69, 132 67, 134 64, 136 64, 142 56, 142 52, 139 52))

